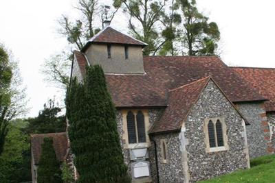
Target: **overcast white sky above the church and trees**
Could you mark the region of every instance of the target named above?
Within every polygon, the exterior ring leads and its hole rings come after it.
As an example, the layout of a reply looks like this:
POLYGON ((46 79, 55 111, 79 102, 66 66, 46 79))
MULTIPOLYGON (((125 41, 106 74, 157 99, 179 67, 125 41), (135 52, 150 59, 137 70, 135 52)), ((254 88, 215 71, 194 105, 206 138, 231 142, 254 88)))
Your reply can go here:
MULTIPOLYGON (((41 64, 61 51, 65 38, 57 31, 61 14, 74 16, 76 0, 0 0, 0 42, 12 50, 19 67, 34 117, 43 103, 61 92, 43 82, 41 64)), ((111 0, 102 0, 110 5, 111 0)), ((275 1, 272 0, 197 0, 221 31, 222 60, 238 66, 275 67, 275 1)), ((112 26, 127 32, 126 19, 118 14, 112 26)))

